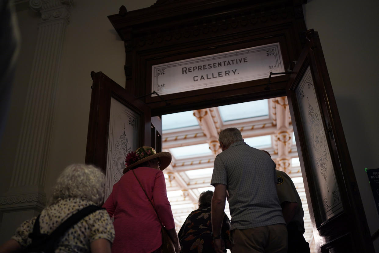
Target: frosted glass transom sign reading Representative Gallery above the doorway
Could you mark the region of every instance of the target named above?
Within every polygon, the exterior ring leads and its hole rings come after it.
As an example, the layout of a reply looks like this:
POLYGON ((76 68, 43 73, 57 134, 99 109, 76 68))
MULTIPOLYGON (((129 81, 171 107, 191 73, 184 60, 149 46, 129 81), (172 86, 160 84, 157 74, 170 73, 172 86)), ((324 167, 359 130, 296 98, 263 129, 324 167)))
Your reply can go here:
POLYGON ((152 91, 165 95, 199 90, 267 78, 270 72, 284 72, 279 42, 153 65, 152 91))

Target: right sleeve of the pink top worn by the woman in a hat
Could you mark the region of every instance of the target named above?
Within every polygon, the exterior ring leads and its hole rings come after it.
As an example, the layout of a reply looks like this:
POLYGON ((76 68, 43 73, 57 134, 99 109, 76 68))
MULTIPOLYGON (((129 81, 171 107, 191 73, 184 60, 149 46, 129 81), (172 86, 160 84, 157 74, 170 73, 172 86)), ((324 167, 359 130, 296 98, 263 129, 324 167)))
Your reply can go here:
POLYGON ((153 190, 153 200, 155 209, 157 209, 159 218, 166 229, 175 228, 174 217, 172 216, 171 205, 167 198, 166 181, 162 171, 155 176, 153 190))

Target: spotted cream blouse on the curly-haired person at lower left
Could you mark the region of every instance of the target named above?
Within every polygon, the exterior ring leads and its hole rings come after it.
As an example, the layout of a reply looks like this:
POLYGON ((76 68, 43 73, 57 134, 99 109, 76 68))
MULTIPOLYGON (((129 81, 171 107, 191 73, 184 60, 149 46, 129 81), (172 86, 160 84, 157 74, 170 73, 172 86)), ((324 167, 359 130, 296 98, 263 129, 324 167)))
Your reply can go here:
MULTIPOLYGON (((94 205, 94 203, 81 198, 67 198, 47 206, 39 217, 40 232, 51 234, 64 220, 89 205, 94 205)), ((23 222, 12 237, 23 248, 31 244, 28 236, 33 231, 36 218, 23 222)), ((113 223, 105 209, 89 214, 70 228, 62 237, 55 253, 91 252, 91 242, 96 239, 107 239, 111 243, 114 239, 113 223)))

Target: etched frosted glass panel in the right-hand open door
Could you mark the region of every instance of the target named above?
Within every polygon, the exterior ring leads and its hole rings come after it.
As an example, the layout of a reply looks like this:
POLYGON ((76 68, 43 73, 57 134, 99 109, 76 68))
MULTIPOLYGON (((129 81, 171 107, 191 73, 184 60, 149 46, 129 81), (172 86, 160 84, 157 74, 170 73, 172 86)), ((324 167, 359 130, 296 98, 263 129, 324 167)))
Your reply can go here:
POLYGON ((343 211, 343 208, 309 66, 295 93, 310 164, 318 185, 318 206, 325 221, 343 211))

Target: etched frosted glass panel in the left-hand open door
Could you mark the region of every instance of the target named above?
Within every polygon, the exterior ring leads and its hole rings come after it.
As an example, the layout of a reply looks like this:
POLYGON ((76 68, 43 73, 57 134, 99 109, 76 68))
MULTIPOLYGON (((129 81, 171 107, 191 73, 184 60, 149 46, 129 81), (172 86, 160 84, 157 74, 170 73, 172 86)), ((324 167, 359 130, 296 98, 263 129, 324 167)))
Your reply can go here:
POLYGON ((113 185, 122 176, 126 154, 138 148, 139 124, 140 119, 137 113, 116 99, 111 99, 106 158, 106 198, 112 192, 113 185))

